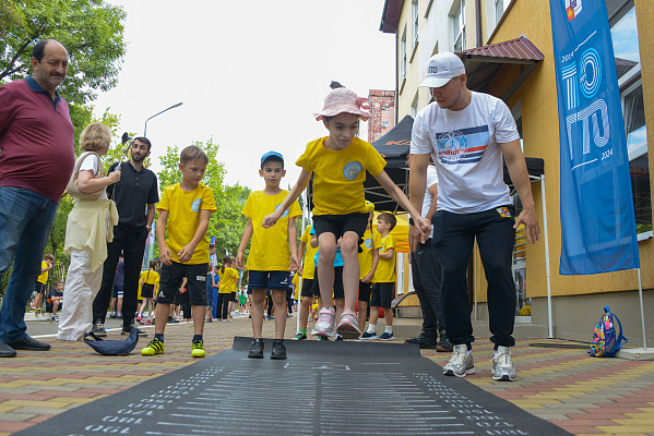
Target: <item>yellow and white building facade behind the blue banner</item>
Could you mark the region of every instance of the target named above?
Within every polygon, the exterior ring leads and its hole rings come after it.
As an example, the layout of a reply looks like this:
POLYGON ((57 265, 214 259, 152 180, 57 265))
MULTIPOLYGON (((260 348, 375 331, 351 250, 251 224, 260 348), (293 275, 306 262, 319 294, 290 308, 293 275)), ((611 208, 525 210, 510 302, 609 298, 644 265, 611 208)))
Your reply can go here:
MULTIPOLYGON (((650 125, 650 133, 654 132, 654 46, 646 41, 654 37, 650 25, 654 22, 654 2, 606 1, 628 133, 645 335, 652 347, 654 239, 650 168, 654 141, 649 141, 646 128, 650 125)), ((466 65, 468 86, 507 102, 516 120, 525 156, 544 164, 543 179, 534 178, 532 191, 542 230, 547 226, 547 239, 542 234, 537 244, 527 245, 519 232, 514 256, 516 300, 519 307, 531 307, 531 316, 516 318, 516 326, 528 325, 531 328, 525 331, 530 335, 546 337, 552 332, 556 338, 587 342, 603 307, 608 305, 620 316, 629 344, 642 347, 635 270, 559 275, 560 158, 549 0, 387 0, 380 31, 396 36, 399 119, 405 114, 415 117, 429 104, 428 89, 418 88, 429 58, 437 52, 455 51, 466 65)), ((478 258, 472 261, 471 270, 474 316, 485 320, 486 282, 478 258)))

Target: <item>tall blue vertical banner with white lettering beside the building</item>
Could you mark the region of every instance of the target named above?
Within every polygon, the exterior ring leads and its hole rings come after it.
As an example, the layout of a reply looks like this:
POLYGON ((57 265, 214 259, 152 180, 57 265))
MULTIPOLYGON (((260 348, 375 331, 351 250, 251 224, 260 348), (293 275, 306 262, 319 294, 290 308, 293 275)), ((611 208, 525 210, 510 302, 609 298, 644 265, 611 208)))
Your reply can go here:
POLYGON ((550 0, 561 158, 561 275, 639 268, 605 0, 550 0))

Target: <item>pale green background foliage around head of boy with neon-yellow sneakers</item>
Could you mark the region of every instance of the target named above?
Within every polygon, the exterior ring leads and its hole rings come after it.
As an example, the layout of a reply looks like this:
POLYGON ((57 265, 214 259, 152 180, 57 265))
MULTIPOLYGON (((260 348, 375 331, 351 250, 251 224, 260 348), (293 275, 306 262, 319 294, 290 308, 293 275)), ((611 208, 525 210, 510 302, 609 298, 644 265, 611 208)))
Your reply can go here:
MULTIPOLYGON (((216 237, 218 257, 222 257, 225 251, 235 256, 247 222, 241 210, 250 190, 238 183, 234 186, 225 185, 225 165, 216 160, 219 145, 214 144, 213 140, 205 143, 194 142, 192 145, 199 146, 209 156, 209 165, 202 183, 213 190, 217 208, 216 214, 211 216, 206 237, 210 241, 212 237, 216 237)), ((181 181, 181 171, 178 166, 179 153, 180 149, 177 146, 168 146, 166 154, 159 157, 162 170, 157 173, 157 178, 162 193, 166 186, 181 181)))

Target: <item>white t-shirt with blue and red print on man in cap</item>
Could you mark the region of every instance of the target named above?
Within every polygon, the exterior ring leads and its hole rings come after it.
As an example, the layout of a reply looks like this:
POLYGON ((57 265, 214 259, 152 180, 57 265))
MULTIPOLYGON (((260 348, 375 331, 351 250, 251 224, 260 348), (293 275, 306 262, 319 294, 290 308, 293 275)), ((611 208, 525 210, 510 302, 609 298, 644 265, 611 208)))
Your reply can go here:
POLYGON ((414 121, 411 153, 432 154, 439 177, 438 210, 473 214, 511 204, 498 145, 520 138, 507 105, 472 93, 463 110, 436 102, 414 121))

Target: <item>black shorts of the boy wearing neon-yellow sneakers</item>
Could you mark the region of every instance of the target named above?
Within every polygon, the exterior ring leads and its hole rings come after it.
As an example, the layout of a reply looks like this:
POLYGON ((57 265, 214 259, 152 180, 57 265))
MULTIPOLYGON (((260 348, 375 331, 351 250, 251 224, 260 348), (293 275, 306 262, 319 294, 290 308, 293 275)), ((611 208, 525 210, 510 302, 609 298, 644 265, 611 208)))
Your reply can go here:
POLYGON ((207 264, 187 265, 173 262, 173 265, 162 265, 162 274, 159 276, 159 292, 157 293, 157 303, 173 304, 175 295, 181 281, 186 277, 187 292, 191 305, 206 305, 206 268, 207 264))

